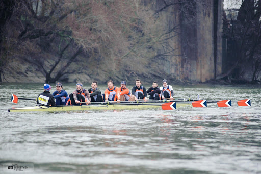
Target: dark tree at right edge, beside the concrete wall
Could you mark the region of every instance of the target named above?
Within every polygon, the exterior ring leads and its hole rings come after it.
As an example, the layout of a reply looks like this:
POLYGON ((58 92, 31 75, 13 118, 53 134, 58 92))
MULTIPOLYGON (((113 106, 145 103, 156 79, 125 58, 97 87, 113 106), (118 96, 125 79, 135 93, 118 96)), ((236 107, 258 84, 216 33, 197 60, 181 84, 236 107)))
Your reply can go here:
MULTIPOLYGON (((231 5, 231 2, 229 3, 231 5)), ((228 10, 229 15, 231 10, 228 10)), ((220 78, 226 76, 241 80, 252 69, 252 83, 261 82, 261 2, 255 0, 241 1, 237 20, 224 21, 224 37, 233 44, 229 68, 220 78)), ((229 46, 229 45, 228 45, 229 46)))

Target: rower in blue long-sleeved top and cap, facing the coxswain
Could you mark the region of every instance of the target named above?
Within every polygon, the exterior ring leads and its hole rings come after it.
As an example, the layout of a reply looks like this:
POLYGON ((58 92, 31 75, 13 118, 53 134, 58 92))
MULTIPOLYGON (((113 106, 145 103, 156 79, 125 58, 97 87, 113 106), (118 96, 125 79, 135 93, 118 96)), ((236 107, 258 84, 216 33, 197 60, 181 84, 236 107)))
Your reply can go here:
POLYGON ((56 83, 56 91, 53 93, 53 96, 55 98, 56 106, 65 105, 70 98, 68 93, 63 90, 63 85, 60 82, 56 83))

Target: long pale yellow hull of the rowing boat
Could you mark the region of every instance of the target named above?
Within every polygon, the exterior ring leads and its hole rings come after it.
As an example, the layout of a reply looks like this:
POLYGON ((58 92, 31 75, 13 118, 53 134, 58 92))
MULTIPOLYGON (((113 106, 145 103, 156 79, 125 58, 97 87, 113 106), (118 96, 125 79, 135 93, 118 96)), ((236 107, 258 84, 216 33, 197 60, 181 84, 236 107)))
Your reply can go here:
MULTIPOLYGON (((182 106, 192 106, 190 103, 176 103, 176 108, 182 106)), ((114 110, 114 109, 150 109, 161 108, 161 105, 141 105, 141 104, 110 104, 110 105, 72 105, 72 106, 33 106, 24 108, 9 109, 8 112, 33 112, 33 111, 76 111, 76 110, 114 110)))

